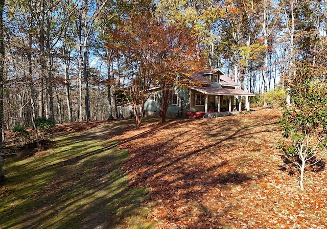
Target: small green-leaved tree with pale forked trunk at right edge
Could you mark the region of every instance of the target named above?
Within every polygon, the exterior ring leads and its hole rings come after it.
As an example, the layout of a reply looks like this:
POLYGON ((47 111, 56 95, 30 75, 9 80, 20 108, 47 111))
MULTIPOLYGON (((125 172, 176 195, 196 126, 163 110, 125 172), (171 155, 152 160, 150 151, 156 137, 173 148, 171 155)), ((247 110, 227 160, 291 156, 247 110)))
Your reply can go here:
POLYGON ((291 107, 284 107, 279 120, 285 141, 279 147, 300 172, 303 190, 305 169, 323 159, 327 146, 327 80, 317 67, 298 67, 289 91, 291 107))

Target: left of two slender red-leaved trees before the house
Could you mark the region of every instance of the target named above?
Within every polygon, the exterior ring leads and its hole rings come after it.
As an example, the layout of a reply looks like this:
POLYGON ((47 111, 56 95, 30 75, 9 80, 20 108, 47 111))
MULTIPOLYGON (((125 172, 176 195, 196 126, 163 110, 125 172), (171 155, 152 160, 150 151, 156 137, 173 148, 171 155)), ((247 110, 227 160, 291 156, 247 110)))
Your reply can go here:
POLYGON ((145 102, 149 98, 148 90, 155 75, 153 45, 156 40, 151 35, 155 21, 151 12, 148 14, 150 16, 135 14, 127 18, 125 25, 115 34, 115 38, 120 40, 117 49, 124 54, 125 74, 129 81, 126 88, 134 109, 136 129, 141 125, 145 102))

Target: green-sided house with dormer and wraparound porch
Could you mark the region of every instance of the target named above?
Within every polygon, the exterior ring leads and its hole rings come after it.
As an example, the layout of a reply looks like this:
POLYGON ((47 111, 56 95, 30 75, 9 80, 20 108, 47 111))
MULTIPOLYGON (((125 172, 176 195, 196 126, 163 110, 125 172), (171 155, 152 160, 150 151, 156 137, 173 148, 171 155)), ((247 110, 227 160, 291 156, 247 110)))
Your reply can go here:
MULTIPOLYGON (((222 115, 249 110, 249 97, 255 96, 239 89, 239 85, 219 69, 214 68, 194 73, 189 88, 176 87, 172 94, 171 105, 168 107, 168 117, 200 118, 207 113, 220 113, 222 115), (243 105, 243 106, 242 106, 243 105)), ((160 116, 160 90, 151 91, 145 104, 147 116, 160 116)))

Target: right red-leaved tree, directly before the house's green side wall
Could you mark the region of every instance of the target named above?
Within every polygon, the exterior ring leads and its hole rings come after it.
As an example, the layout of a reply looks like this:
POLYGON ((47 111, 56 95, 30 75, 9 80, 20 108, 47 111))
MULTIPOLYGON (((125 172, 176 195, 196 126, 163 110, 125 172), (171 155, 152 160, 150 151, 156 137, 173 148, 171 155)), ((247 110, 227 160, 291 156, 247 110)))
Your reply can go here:
POLYGON ((161 122, 166 122, 168 106, 171 103, 175 87, 189 85, 189 77, 200 66, 203 58, 194 29, 177 23, 167 25, 158 21, 153 30, 155 37, 155 85, 160 87, 158 96, 161 122))

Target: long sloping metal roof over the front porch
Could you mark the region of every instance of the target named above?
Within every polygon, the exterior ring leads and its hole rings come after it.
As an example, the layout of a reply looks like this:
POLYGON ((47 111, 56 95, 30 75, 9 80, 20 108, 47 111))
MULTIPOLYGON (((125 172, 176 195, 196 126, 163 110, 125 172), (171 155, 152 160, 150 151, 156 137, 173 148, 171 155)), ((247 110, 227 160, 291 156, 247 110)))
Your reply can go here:
POLYGON ((255 96, 255 94, 253 93, 233 88, 191 87, 191 89, 199 91, 200 93, 205 95, 214 96, 255 96))

